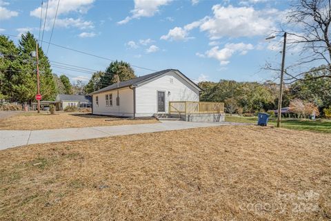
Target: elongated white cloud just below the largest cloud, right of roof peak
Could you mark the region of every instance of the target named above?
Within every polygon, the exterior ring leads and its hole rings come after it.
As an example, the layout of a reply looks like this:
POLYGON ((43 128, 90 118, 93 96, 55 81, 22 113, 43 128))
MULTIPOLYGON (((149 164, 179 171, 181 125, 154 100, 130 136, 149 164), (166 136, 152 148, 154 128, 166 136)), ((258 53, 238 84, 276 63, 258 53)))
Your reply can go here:
POLYGON ((219 49, 219 46, 214 46, 210 50, 207 50, 204 55, 197 53, 196 55, 199 57, 209 57, 217 59, 221 65, 229 64, 230 57, 235 53, 239 53, 239 55, 247 54, 248 50, 252 50, 254 46, 252 44, 225 44, 224 48, 219 49))

